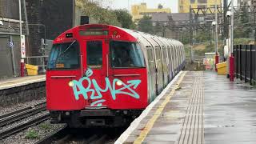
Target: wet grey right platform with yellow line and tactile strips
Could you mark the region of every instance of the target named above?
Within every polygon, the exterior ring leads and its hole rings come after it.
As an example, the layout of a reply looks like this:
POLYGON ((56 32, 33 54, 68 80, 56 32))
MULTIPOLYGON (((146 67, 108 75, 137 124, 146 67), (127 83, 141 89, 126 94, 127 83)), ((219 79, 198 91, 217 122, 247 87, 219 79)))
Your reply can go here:
POLYGON ((255 87, 182 71, 115 143, 254 143, 255 109, 255 87))

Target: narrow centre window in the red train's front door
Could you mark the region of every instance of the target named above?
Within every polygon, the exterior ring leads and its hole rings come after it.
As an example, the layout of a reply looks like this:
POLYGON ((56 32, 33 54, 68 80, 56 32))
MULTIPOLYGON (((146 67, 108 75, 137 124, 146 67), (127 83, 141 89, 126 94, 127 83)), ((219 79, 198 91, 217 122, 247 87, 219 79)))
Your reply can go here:
POLYGON ((102 41, 88 41, 86 43, 87 66, 102 67, 102 41))

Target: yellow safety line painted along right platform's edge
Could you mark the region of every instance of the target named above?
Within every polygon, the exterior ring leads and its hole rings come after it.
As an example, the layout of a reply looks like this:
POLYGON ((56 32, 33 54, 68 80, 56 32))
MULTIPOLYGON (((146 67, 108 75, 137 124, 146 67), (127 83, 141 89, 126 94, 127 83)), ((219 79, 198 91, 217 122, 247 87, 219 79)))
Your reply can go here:
POLYGON ((164 102, 162 102, 161 106, 158 106, 158 110, 155 111, 152 118, 150 118, 150 121, 146 123, 145 128, 142 130, 142 132, 139 134, 138 138, 134 141, 134 144, 142 143, 144 139, 146 138, 146 135, 150 132, 151 128, 154 126, 154 122, 158 119, 160 114, 162 113, 162 110, 165 108, 166 104, 170 102, 170 98, 174 95, 175 90, 178 89, 178 86, 182 82, 186 72, 183 72, 181 78, 178 80, 176 86, 174 86, 174 89, 171 90, 170 94, 166 96, 166 99, 164 102))

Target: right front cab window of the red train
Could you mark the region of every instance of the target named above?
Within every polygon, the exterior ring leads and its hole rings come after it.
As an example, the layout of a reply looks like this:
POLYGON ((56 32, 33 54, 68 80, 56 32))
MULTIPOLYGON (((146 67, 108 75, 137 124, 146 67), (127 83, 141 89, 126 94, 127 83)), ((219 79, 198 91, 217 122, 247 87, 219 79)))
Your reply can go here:
POLYGON ((122 67, 145 67, 142 50, 135 42, 111 42, 111 66, 122 67))

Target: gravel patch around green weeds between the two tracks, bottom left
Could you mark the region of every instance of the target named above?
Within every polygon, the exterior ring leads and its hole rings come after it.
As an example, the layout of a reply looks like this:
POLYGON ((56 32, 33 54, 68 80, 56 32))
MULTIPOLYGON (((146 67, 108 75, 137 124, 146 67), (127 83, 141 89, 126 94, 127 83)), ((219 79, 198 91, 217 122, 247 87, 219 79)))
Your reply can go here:
POLYGON ((37 126, 32 126, 26 130, 23 130, 17 134, 11 135, 8 138, 0 140, 1 144, 32 144, 38 142, 38 140, 46 137, 47 134, 60 129, 63 124, 50 124, 50 120, 42 122, 37 126), (29 134, 34 133, 34 138, 28 137, 29 134))

